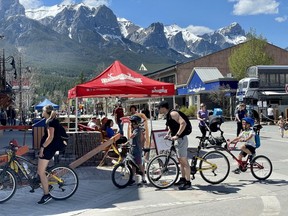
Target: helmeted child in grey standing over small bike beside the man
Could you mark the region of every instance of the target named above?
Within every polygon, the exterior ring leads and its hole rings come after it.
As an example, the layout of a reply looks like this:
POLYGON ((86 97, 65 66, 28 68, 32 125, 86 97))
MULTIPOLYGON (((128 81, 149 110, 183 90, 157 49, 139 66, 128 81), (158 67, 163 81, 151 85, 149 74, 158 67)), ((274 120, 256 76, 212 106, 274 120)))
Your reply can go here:
MULTIPOLYGON (((142 163, 142 148, 143 148, 143 130, 140 127, 141 124, 141 118, 137 115, 133 115, 130 117, 130 122, 132 126, 132 134, 130 136, 130 139, 132 140, 132 149, 131 154, 134 157, 134 160, 136 164, 139 166, 140 171, 142 172, 142 184, 146 184, 145 180, 145 171, 144 166, 142 163)), ((136 176, 136 168, 133 167, 133 180, 131 184, 135 183, 135 176, 136 176)), ((141 183, 139 185, 141 185, 141 183)))

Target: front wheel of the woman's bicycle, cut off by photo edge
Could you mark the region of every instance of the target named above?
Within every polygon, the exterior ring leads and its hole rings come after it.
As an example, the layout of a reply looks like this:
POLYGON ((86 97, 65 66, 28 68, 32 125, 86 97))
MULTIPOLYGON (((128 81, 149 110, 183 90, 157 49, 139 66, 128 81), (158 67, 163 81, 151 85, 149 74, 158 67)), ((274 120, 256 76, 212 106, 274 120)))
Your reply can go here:
POLYGON ((0 169, 0 203, 11 199, 16 192, 16 184, 16 176, 12 171, 6 170, 4 173, 3 169, 0 169))

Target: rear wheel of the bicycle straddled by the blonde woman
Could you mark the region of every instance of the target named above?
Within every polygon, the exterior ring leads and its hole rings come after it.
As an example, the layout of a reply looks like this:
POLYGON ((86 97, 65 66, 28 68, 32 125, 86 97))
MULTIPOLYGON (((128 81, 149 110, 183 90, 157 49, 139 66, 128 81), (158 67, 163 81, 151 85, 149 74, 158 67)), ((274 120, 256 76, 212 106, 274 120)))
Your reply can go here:
POLYGON ((71 197, 77 190, 79 179, 73 169, 66 166, 54 166, 47 171, 50 194, 55 200, 71 197))

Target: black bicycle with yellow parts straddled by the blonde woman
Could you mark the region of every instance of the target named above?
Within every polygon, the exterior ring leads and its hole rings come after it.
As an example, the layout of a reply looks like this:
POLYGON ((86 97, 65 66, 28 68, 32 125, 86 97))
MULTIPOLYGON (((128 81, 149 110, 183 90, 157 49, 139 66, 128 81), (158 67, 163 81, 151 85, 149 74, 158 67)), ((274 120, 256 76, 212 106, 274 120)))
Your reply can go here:
MULTIPOLYGON (((36 173, 37 164, 29 159, 16 155, 18 145, 10 142, 8 146, 7 162, 0 167, 0 203, 11 199, 16 192, 17 185, 30 186, 30 192, 41 187, 36 173)), ((49 191, 53 199, 65 200, 71 197, 79 185, 78 176, 67 166, 56 165, 48 167, 47 171, 49 191)))

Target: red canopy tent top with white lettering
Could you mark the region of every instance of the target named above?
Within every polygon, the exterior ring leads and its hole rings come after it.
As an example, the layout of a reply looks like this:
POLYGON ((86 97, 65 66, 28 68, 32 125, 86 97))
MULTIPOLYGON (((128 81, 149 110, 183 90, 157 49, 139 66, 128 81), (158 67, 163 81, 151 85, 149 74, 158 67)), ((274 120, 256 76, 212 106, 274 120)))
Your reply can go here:
POLYGON ((175 95, 172 83, 145 77, 115 61, 96 78, 68 91, 68 98, 83 97, 160 97, 175 95))

